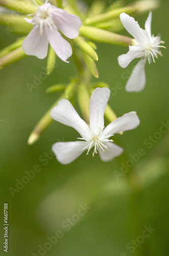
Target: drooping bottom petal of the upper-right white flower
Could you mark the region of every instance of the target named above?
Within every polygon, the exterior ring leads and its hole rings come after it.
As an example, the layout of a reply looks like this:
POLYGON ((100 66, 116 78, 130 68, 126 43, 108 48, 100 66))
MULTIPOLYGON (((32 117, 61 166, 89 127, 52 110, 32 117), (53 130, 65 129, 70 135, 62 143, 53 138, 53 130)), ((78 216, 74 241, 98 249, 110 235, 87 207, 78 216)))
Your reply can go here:
POLYGON ((146 58, 140 60, 133 69, 126 83, 127 92, 140 92, 144 89, 146 84, 145 64, 146 58))

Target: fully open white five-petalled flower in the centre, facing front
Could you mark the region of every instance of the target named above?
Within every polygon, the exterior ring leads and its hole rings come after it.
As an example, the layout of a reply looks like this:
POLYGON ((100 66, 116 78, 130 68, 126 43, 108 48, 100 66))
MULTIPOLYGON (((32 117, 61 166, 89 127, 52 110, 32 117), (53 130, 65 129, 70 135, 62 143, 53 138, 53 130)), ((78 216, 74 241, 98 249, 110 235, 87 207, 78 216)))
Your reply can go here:
POLYGON ((90 127, 83 121, 72 104, 67 99, 62 99, 55 106, 50 115, 51 117, 65 125, 73 127, 80 135, 77 138, 84 141, 57 142, 53 144, 52 151, 58 161, 68 164, 79 157, 87 150, 87 155, 94 147, 93 156, 99 152, 102 161, 110 161, 123 153, 123 148, 112 143, 109 139, 116 133, 132 130, 139 124, 136 112, 130 112, 104 128, 104 111, 110 95, 108 88, 97 88, 90 98, 90 127))

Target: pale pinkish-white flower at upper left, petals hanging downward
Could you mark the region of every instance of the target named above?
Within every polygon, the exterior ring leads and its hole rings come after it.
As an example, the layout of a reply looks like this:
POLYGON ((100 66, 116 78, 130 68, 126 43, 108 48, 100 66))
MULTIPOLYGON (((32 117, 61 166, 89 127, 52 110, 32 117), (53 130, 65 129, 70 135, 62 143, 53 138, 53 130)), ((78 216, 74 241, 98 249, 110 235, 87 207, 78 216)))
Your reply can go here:
POLYGON ((43 59, 47 55, 48 44, 50 44, 58 57, 68 62, 66 60, 72 55, 72 48, 58 29, 68 38, 77 37, 81 27, 79 17, 48 3, 39 6, 32 19, 25 18, 25 20, 34 25, 22 43, 25 54, 43 59))

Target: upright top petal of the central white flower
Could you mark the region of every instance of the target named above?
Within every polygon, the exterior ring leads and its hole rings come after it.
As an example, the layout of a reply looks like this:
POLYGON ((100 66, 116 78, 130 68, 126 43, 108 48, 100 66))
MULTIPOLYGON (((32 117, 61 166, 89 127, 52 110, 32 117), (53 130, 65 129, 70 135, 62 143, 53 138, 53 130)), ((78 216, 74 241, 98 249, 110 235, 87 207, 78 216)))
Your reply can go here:
POLYGON ((110 90, 106 87, 97 88, 90 98, 90 129, 97 135, 99 128, 104 127, 104 111, 110 96, 110 90))

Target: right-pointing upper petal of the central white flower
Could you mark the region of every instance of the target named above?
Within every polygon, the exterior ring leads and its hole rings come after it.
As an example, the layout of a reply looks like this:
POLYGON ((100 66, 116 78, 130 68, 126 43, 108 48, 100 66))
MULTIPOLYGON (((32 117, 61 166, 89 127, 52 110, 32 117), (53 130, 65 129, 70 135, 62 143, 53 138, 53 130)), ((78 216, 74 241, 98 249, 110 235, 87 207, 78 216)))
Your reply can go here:
POLYGON ((139 119, 136 112, 129 112, 109 123, 104 129, 102 137, 135 129, 138 124, 139 119))

